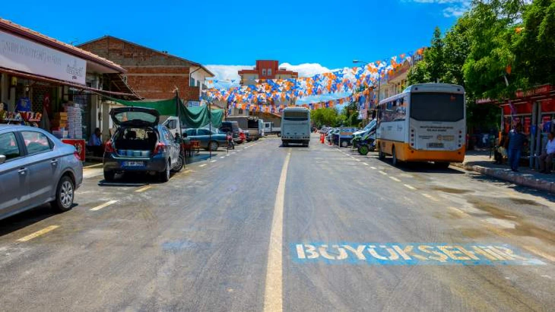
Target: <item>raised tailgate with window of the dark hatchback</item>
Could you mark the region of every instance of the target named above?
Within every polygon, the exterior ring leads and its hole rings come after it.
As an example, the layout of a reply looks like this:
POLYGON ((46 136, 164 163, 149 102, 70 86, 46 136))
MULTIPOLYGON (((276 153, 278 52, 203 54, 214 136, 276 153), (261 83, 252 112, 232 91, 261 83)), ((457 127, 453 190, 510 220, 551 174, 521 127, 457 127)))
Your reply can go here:
POLYGON ((160 121, 160 113, 155 109, 127 106, 113 108, 110 117, 118 126, 154 127, 160 121))

